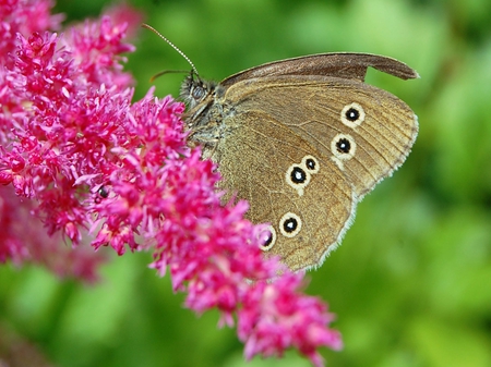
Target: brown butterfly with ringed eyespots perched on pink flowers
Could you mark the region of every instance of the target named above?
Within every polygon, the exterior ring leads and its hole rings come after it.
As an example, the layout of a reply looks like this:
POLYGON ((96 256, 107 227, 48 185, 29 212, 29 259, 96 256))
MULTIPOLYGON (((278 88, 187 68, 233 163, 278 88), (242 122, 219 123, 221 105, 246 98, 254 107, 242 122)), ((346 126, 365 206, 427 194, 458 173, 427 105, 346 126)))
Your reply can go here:
MULTIPOLYGON (((192 65, 192 63, 191 63, 192 65)), ((218 84, 195 72, 181 98, 190 145, 218 163, 220 188, 268 222, 262 249, 291 269, 320 266, 340 242, 358 201, 408 156, 411 109, 364 84, 371 66, 403 79, 416 71, 387 57, 322 53, 248 69, 218 84)))

